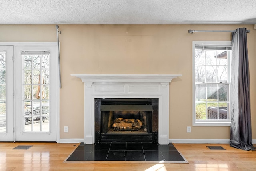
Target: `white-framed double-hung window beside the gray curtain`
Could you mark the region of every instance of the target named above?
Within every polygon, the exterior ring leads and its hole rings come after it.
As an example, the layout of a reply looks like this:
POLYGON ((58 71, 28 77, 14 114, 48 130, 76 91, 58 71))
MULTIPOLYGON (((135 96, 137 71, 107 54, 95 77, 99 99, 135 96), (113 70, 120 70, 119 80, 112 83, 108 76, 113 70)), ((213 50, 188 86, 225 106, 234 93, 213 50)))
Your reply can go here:
POLYGON ((193 125, 230 125, 230 41, 193 42, 193 125))

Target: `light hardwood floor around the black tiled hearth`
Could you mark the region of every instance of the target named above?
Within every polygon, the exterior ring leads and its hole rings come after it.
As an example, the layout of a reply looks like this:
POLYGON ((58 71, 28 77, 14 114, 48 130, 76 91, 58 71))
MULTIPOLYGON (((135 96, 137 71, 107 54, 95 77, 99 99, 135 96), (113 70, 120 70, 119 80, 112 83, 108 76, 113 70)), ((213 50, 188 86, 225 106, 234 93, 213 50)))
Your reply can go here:
MULTIPOLYGON (((256 151, 243 151, 228 144, 174 144, 189 162, 171 163, 63 163, 79 144, 0 143, 0 171, 255 171, 256 151), (14 150, 18 145, 33 145, 14 150), (226 150, 209 150, 222 146, 226 150)), ((255 146, 255 145, 254 145, 255 146)))

